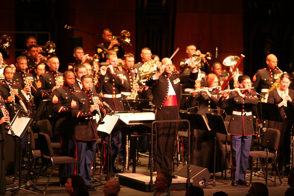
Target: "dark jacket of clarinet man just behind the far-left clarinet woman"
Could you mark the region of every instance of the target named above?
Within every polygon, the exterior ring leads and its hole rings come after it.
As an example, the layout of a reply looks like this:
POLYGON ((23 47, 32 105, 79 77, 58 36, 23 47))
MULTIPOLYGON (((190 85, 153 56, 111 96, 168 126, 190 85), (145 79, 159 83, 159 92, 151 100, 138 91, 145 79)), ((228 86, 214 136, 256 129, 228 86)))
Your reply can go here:
MULTIPOLYGON (((39 96, 39 89, 36 85, 36 78, 30 73, 26 73, 26 78, 28 81, 31 81, 31 83, 33 84, 33 86, 31 87, 31 94, 34 97, 38 97, 39 96)), ((24 87, 26 86, 25 82, 24 82, 24 74, 23 74, 23 72, 20 72, 18 70, 15 71, 13 78, 12 78, 12 81, 19 83, 21 85, 21 89, 24 89, 24 87)))

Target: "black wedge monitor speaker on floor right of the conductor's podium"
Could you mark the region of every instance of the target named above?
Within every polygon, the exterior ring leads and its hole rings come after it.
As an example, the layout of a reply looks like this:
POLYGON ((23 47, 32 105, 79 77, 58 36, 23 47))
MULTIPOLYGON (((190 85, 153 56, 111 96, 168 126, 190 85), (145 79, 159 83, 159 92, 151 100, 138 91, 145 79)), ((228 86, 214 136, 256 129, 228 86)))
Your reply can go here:
MULTIPOLYGON (((180 170, 175 172, 174 174, 181 177, 188 177, 188 165, 185 165, 180 170)), ((193 180, 192 185, 198 187, 205 187, 210 179, 211 175, 207 168, 198 167, 196 165, 190 165, 190 179, 193 180), (204 181, 204 182, 203 182, 204 181)))

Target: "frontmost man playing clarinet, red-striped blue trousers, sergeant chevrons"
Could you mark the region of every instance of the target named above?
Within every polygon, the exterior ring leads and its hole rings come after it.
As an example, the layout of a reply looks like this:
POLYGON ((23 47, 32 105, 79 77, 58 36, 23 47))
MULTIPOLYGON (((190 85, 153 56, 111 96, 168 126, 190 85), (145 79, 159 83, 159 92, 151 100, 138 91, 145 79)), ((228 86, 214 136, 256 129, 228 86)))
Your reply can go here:
POLYGON ((99 95, 94 93, 93 98, 90 88, 93 88, 93 80, 90 75, 81 77, 82 89, 71 96, 71 114, 75 118, 74 139, 76 140, 76 155, 78 160, 79 175, 85 180, 88 190, 96 190, 91 185, 91 165, 95 156, 97 145, 96 113, 99 109, 101 115, 106 114, 102 107, 99 95), (95 103, 92 99, 95 99, 95 103))

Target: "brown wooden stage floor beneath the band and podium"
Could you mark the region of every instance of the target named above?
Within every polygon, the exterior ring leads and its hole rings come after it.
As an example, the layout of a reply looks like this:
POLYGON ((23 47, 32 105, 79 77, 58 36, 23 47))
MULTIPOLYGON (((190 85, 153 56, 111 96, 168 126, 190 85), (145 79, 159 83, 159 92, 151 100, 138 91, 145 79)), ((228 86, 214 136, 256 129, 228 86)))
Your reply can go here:
MULTIPOLYGON (((142 164, 147 164, 148 163, 148 157, 146 156, 140 156, 139 160, 141 161, 142 164)), ((97 161, 99 161, 97 159, 97 161)), ((119 165, 120 168, 122 168, 121 165, 119 165)), ((179 168, 176 168, 175 167, 175 171, 181 169, 182 165, 179 167, 179 168)), ((47 173, 49 174, 51 169, 48 169, 47 173)), ((100 180, 100 175, 98 175, 100 169, 98 169, 96 171, 97 175, 95 176, 96 179, 100 180)), ((130 172, 132 171, 132 167, 130 166, 130 172)), ((269 169, 269 171, 271 171, 271 168, 269 169)), ((147 166, 137 166, 136 167, 136 172, 137 173, 146 173, 148 172, 148 167, 147 166)), ((250 172, 250 171, 248 171, 250 172)), ((45 173, 46 174, 46 173, 45 173)), ((250 175, 250 173, 249 173, 250 175)), ((217 191, 224 191, 226 192, 228 195, 246 195, 248 193, 248 190, 249 190, 249 186, 237 186, 237 187, 233 187, 230 185, 231 181, 230 180, 224 180, 224 179, 221 179, 220 178, 221 176, 221 173, 217 173, 216 174, 216 178, 217 178, 217 182, 216 182, 216 187, 213 187, 213 182, 211 181, 210 185, 207 185, 203 190, 204 190, 204 195, 213 195, 213 193, 217 192, 217 191), (220 179, 218 179, 220 178, 220 179), (223 183, 226 183, 226 184, 223 184, 223 183)), ((230 176, 230 174, 228 174, 228 176, 230 176)), ((8 180, 10 178, 10 176, 6 175, 6 184, 9 183, 9 182, 12 182, 12 180, 8 180)), ((37 187, 40 188, 40 189, 43 189, 44 190, 44 187, 46 185, 46 182, 47 182, 47 177, 45 176, 40 176, 39 180, 38 180, 38 184, 37 184, 37 187)), ((105 179, 105 175, 103 175, 102 177, 102 182, 105 183, 104 181, 105 179)), ((212 177, 211 179, 212 180, 212 177)), ((250 181, 250 177, 246 178, 247 182, 250 181)), ((277 180, 276 180, 276 187, 271 187, 272 185, 274 185, 273 182, 270 182, 268 181, 268 190, 269 190, 269 195, 284 195, 285 191, 287 190, 287 188, 289 187, 289 185, 287 184, 287 180, 288 178, 287 177, 284 177, 282 179, 283 181, 283 185, 280 185, 280 181, 277 177, 277 180)), ((31 184, 34 184, 31 180, 30 180, 31 184)), ((253 182, 262 182, 262 183, 265 183, 265 180, 261 177, 256 177, 256 176, 253 176, 253 182)), ((154 182, 153 182, 154 183, 154 182)), ((18 185, 18 183, 17 183, 18 185)), ((92 185, 99 185, 98 182, 92 182, 92 185)), ((6 188, 11 188, 11 185, 7 185, 6 188)), ((90 195, 95 195, 95 196, 102 196, 104 195, 104 192, 102 191, 103 189, 103 185, 102 186, 98 186, 97 187, 97 190, 96 191, 89 191, 89 194, 90 195)), ((175 190, 175 191, 172 191, 172 194, 173 195, 185 195, 185 192, 186 190, 175 190)), ((8 190, 4 195, 8 196, 10 195, 12 192, 10 190, 8 190)), ((39 192, 39 194, 42 195, 42 193, 39 192)), ((133 189, 133 188, 130 188, 130 187, 127 187, 125 185, 121 186, 121 192, 119 193, 120 196, 137 196, 137 195, 152 195, 153 193, 152 192, 143 192, 143 191, 139 191, 139 190, 136 190, 136 189, 133 189)), ((17 192, 15 195, 30 195, 30 196, 33 196, 33 195, 36 195, 36 194, 33 194, 33 193, 30 193, 28 191, 25 191, 25 190, 20 190, 19 192, 17 192)), ((67 195, 67 192, 64 190, 64 185, 59 185, 59 177, 58 177, 58 171, 55 170, 54 173, 53 173, 53 176, 51 178, 51 181, 49 183, 49 187, 47 188, 46 190, 46 195, 54 195, 54 196, 65 196, 67 195)))

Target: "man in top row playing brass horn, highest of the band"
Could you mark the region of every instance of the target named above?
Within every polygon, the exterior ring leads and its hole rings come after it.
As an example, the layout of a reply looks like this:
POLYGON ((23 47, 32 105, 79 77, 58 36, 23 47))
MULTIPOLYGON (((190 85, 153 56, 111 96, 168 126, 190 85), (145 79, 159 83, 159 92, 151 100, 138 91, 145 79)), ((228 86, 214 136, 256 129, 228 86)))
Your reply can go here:
POLYGON ((104 29, 103 34, 103 43, 98 44, 95 47, 95 52, 100 56, 101 65, 105 65, 106 63, 106 55, 108 50, 115 50, 118 58, 123 58, 123 55, 126 53, 123 49, 123 46, 118 42, 118 40, 113 39, 112 32, 110 29, 104 29))

